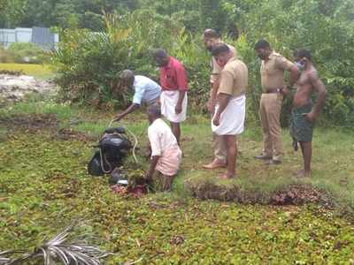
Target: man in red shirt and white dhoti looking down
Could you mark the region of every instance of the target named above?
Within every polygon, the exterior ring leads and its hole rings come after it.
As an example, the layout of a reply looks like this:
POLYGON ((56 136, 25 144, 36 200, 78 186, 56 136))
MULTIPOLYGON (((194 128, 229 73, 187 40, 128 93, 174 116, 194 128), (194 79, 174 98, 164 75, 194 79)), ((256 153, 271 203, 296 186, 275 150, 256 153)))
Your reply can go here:
POLYGON ((183 64, 169 57, 165 49, 156 49, 154 58, 160 66, 161 113, 171 124, 172 132, 180 145, 181 122, 187 114, 187 74, 183 64))

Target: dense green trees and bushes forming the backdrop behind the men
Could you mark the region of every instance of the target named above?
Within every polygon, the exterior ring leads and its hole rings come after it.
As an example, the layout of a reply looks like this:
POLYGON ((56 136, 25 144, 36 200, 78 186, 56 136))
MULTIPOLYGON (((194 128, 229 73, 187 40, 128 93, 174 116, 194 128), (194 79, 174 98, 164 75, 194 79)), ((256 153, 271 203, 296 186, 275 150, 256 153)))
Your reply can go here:
MULTIPOLYGON (((251 119, 258 116, 260 94, 259 61, 253 45, 266 38, 290 59, 293 49, 311 49, 320 78, 327 85, 323 121, 348 126, 354 123, 354 3, 349 0, 4 0, 0 13, 3 27, 64 28, 59 30, 62 43, 54 63, 63 73, 60 83, 65 92, 71 87, 88 91, 81 100, 107 102, 114 95, 116 74, 124 68, 156 79, 149 51, 160 46, 187 66, 195 95, 191 98, 202 106, 210 69, 200 38, 204 28, 212 27, 239 49, 249 66, 251 119), (104 12, 116 14, 110 27, 104 12), (89 30, 105 34, 89 34, 89 30), (97 88, 104 96, 92 94, 97 88)), ((114 98, 113 103, 124 105, 122 99, 127 95, 120 92, 114 98)), ((288 99, 283 125, 287 124, 289 107, 288 99)))

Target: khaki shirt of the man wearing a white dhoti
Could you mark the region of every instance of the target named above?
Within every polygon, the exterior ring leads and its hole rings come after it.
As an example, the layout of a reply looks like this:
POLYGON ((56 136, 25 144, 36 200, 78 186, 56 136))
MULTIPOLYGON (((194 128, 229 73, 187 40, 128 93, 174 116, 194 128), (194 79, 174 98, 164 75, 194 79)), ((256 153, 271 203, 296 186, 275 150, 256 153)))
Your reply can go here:
POLYGON ((248 74, 246 64, 236 57, 230 58, 220 73, 218 94, 223 93, 233 97, 244 95, 248 85, 248 74))

